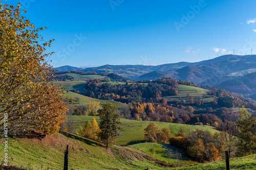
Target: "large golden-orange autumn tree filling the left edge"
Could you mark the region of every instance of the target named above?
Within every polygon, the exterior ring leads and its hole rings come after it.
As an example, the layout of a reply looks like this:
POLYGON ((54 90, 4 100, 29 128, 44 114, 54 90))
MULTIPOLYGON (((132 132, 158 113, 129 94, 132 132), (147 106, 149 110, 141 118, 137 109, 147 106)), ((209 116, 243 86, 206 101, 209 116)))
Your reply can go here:
POLYGON ((0 128, 8 115, 9 134, 54 134, 67 109, 47 64, 52 40, 44 41, 39 31, 45 28, 20 16, 19 8, 0 4, 0 128))

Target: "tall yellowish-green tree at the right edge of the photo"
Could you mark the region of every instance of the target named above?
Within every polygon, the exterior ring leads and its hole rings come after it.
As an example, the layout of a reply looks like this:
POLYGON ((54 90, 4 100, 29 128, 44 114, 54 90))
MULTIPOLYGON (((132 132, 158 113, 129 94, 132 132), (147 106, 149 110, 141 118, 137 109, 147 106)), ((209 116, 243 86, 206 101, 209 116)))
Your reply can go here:
POLYGON ((255 125, 256 119, 250 115, 244 106, 239 109, 240 118, 238 118, 238 156, 246 156, 255 152, 255 125))

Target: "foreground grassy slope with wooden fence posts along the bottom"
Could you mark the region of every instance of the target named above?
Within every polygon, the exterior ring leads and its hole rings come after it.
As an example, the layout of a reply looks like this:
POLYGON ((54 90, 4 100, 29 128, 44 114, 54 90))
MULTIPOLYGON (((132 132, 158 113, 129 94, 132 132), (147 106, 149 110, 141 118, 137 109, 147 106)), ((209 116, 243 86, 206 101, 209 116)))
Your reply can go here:
MULTIPOLYGON (((0 141, 0 150, 4 143, 0 141)), ((111 149, 91 139, 60 132, 46 138, 17 138, 8 141, 9 164, 26 169, 62 169, 66 146, 69 144, 69 169, 183 169, 183 170, 219 170, 225 169, 225 161, 196 163, 187 159, 182 151, 175 147, 157 143, 139 143, 129 147, 113 145, 111 149), (194 164, 177 168, 161 167, 147 160, 145 155, 153 156, 150 148, 155 148, 154 157, 168 162, 167 150, 178 151, 182 160, 170 159, 175 164, 194 164)), ((2 155, 3 152, 1 152, 2 155)), ((3 155, 2 155, 3 156, 3 155)), ((231 169, 256 169, 256 155, 230 159, 231 169)))

